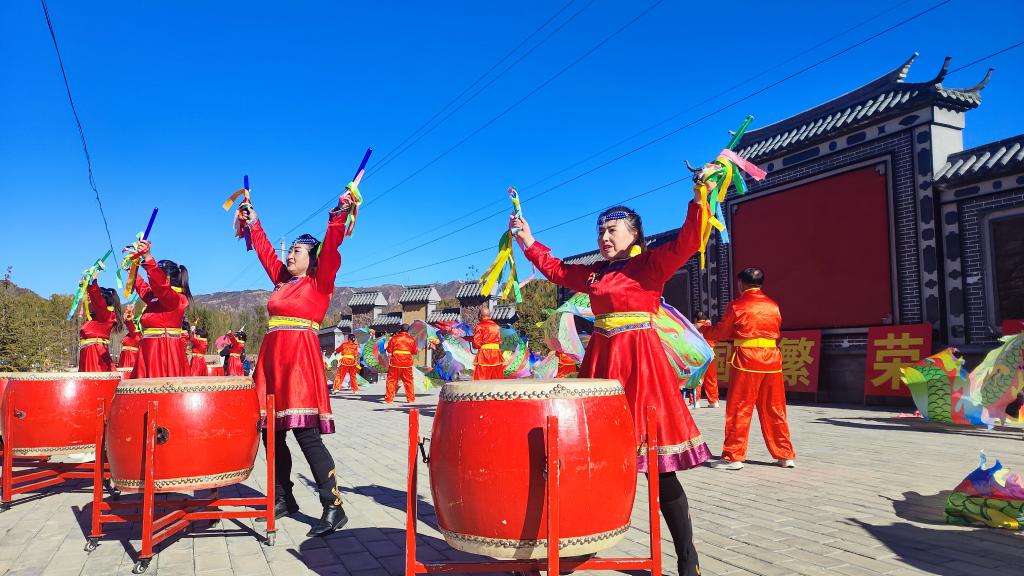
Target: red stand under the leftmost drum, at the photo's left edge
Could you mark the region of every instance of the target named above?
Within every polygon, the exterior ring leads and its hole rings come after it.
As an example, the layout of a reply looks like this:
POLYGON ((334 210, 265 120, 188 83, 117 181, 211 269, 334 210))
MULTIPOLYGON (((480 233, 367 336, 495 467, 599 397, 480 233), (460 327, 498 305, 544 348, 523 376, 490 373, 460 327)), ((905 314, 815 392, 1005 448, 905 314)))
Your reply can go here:
MULTIPOLYGON (((14 404, 14 393, 8 394, 7 410, 0 414, 3 418, 3 428, 7 437, 4 439, 2 452, 2 467, 0 467, 0 511, 10 508, 12 499, 17 494, 37 492, 43 488, 63 484, 69 480, 94 480, 93 491, 102 492, 104 482, 111 478, 110 468, 102 465, 99 458, 92 462, 51 462, 47 456, 15 456, 17 437, 14 430, 14 419, 18 418, 18 410, 14 404), (14 468, 28 468, 18 469, 14 468)), ((97 399, 96 410, 96 452, 101 450, 103 437, 103 399, 97 399)))

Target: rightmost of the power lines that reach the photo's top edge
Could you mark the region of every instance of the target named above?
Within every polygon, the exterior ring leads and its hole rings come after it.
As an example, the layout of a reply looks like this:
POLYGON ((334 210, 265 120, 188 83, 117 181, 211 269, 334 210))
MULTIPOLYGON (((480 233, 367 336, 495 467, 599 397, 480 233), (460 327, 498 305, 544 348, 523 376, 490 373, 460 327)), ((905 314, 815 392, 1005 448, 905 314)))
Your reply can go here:
MULTIPOLYGON (((802 75, 802 74, 804 74, 804 73, 806 73, 806 72, 808 72, 810 70, 813 70, 813 69, 815 69, 815 68, 817 68, 817 67, 819 67, 819 66, 821 66, 821 65, 823 65, 823 64, 825 64, 825 63, 827 63, 827 61, 829 61, 831 59, 835 59, 836 57, 838 57, 838 56, 840 56, 840 55, 842 55, 842 54, 844 54, 846 52, 849 52, 850 50, 852 50, 854 48, 857 48, 857 47, 859 47, 859 46, 861 46, 861 45, 863 45, 863 44, 865 44, 865 43, 867 43, 867 42, 869 42, 869 41, 871 41, 871 40, 873 40, 873 39, 876 39, 876 38, 878 38, 878 37, 880 37, 880 36, 882 36, 882 35, 884 35, 886 33, 888 33, 888 32, 891 32, 891 31, 893 31, 893 30, 895 30, 895 29, 897 29, 897 28, 899 28, 899 27, 901 27, 901 26, 903 26, 905 24, 908 24, 908 23, 910 23, 910 22, 912 22, 912 20, 914 20, 914 19, 916 19, 916 18, 919 18, 921 16, 924 16, 925 14, 927 14, 927 13, 929 13, 929 12, 931 12, 931 11, 933 11, 933 10, 941 7, 941 6, 943 6, 945 4, 948 4, 950 1, 951 0, 942 0, 941 2, 939 2, 937 4, 934 4, 933 6, 931 6, 929 8, 926 8, 923 11, 918 12, 918 13, 915 13, 912 16, 908 16, 908 17, 906 17, 906 18, 904 18, 904 19, 902 19, 902 20, 900 20, 900 22, 898 22, 898 23, 896 23, 896 24, 894 24, 892 26, 889 26, 888 28, 882 30, 881 32, 877 32, 877 33, 874 33, 874 34, 872 34, 872 35, 870 35, 870 36, 868 36, 868 37, 866 37, 866 38, 864 38, 864 39, 862 39, 862 40, 860 40, 858 42, 855 42, 854 44, 851 44, 850 46, 847 46, 846 48, 843 48, 843 49, 841 49, 841 50, 839 50, 837 52, 834 52, 833 54, 830 54, 830 55, 828 55, 828 56, 826 56, 824 58, 821 58, 821 59, 817 60, 814 64, 806 66, 806 67, 798 70, 797 72, 794 72, 794 73, 792 73, 792 74, 790 74, 790 75, 781 78, 780 80, 776 80, 775 82, 772 82, 772 83, 770 83, 770 84, 768 84, 766 86, 763 86, 763 87, 761 87, 761 88, 759 88, 759 89, 757 89, 757 90, 755 90, 755 91, 753 91, 753 92, 751 92, 751 93, 749 93, 749 94, 746 94, 744 96, 736 98, 736 99, 730 101, 729 104, 727 104, 725 106, 719 107, 718 109, 716 109, 716 110, 714 110, 712 112, 709 112, 708 114, 705 114, 703 116, 700 116, 700 117, 696 118, 695 120, 691 120, 690 122, 687 122, 686 124, 683 124, 682 126, 679 126, 678 128, 674 128, 674 129, 668 131, 668 132, 666 132, 666 133, 664 133, 664 134, 662 134, 662 135, 659 135, 659 136, 657 136, 657 137, 655 137, 655 138, 653 138, 651 140, 648 140, 645 143, 642 143, 642 145, 640 145, 640 146, 638 146, 636 148, 633 148, 632 150, 630 150, 628 152, 625 152, 623 154, 620 154, 618 156, 615 156, 615 157, 611 158, 610 160, 602 162, 602 163, 598 164, 597 166, 594 166, 594 167, 592 167, 592 168, 590 168, 588 170, 585 170, 585 171, 583 171, 583 172, 581 172, 581 173, 579 173, 579 174, 577 174, 577 175, 574 175, 574 176, 572 176, 572 177, 570 177, 570 178, 568 178, 566 180, 563 180, 563 181, 561 181, 561 182, 559 182, 559 183, 557 183, 557 184, 555 184, 553 187, 550 187, 547 190, 545 190, 545 191, 543 191, 543 192, 541 192, 539 194, 536 194, 536 195, 534 195, 534 196, 531 196, 529 198, 526 198, 526 199, 524 199, 524 202, 534 201, 534 200, 536 200, 536 199, 538 199, 538 198, 540 198, 542 196, 545 196, 545 195, 547 195, 547 194, 549 194, 551 192, 554 192, 555 190, 557 190, 559 188, 562 188, 562 187, 564 187, 564 186, 566 186, 568 183, 571 183, 571 182, 573 182, 573 181, 575 181, 575 180, 578 180, 578 179, 580 179, 580 178, 582 178, 584 176, 592 174, 592 173, 600 170, 601 168, 604 168, 604 167, 606 167, 606 166, 608 166, 610 164, 613 164, 613 163, 615 163, 615 162, 617 162, 617 161, 620 161, 620 160, 622 160, 624 158, 632 156, 632 155, 636 154, 637 152, 640 152, 641 150, 644 150, 644 149, 646 149, 646 148, 648 148, 650 146, 653 146, 654 143, 657 143, 657 142, 659 142, 659 141, 662 141, 662 140, 664 140, 664 139, 666 139, 666 138, 668 138, 670 136, 673 136, 673 135, 675 135, 675 134, 677 134, 677 133, 679 133, 679 132, 681 132, 681 131, 683 131, 683 130, 685 130, 685 129, 687 129, 687 128, 689 128, 689 127, 691 127, 691 126, 693 126, 693 125, 695 125, 695 124, 697 124, 699 122, 702 122, 702 121, 705 121, 705 120, 707 120, 707 119, 709 119, 709 118, 711 118, 713 116, 721 114, 722 112, 725 112, 726 110, 728 110, 730 108, 733 108, 733 107, 735 107, 735 106, 737 106, 737 105, 739 105, 739 104, 741 104, 743 101, 746 101, 750 98, 753 98, 754 96, 757 96, 757 95, 759 95, 761 93, 764 93, 765 91, 770 90, 771 88, 774 88, 775 86, 778 86, 779 84, 782 84, 783 82, 787 82, 787 81, 796 78, 797 76, 800 76, 800 75, 802 75)), ((440 240, 442 240, 444 238, 447 238, 447 237, 450 237, 450 236, 452 236, 454 234, 457 234, 459 232, 467 230, 468 228, 476 225, 477 223, 480 223, 480 222, 482 222, 482 221, 484 221, 486 219, 489 219, 489 218, 492 218, 494 216, 502 214, 502 213, 504 213, 506 211, 507 211, 507 209, 499 209, 498 211, 492 212, 492 213, 489 213, 489 214, 487 214, 485 216, 482 216, 481 218, 478 218, 478 219, 474 220, 473 222, 470 222, 470 223, 468 223, 466 225, 463 225, 462 228, 459 228, 459 229, 457 229, 455 231, 452 231, 450 233, 440 235, 440 236, 434 238, 433 240, 430 240, 428 242, 420 244, 420 245, 418 245, 418 246, 416 246, 414 248, 411 248, 409 250, 403 250, 403 251, 400 251, 400 252, 396 252, 396 253, 394 253, 394 254, 392 254, 390 256, 387 256, 385 258, 381 258, 381 259, 375 260, 374 262, 372 262, 372 263, 370 263, 368 265, 365 265, 365 266, 362 266, 360 269, 356 269, 353 272, 359 272, 359 271, 362 271, 362 270, 374 268, 374 266, 380 265, 380 264, 382 264, 384 262, 390 261, 390 260, 392 260, 392 259, 394 259, 396 257, 399 257, 399 256, 402 256, 402 255, 408 254, 410 252, 413 252, 415 250, 419 250, 419 249, 421 249, 421 248, 423 248, 425 246, 429 246, 431 244, 439 242, 440 240)))

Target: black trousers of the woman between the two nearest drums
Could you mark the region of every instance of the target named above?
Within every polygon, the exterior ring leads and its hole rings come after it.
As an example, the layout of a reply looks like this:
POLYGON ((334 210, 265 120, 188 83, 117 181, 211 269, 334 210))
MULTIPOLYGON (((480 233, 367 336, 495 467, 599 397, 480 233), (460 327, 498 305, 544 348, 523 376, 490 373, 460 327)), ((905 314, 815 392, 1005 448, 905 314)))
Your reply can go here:
MULTIPOLYGON (((299 448, 302 449, 302 455, 306 457, 309 469, 313 472, 321 503, 325 507, 341 505, 341 493, 338 492, 338 481, 335 478, 334 458, 328 452, 327 446, 324 446, 319 428, 292 428, 292 434, 295 435, 295 440, 299 443, 299 448)), ((278 498, 291 497, 292 495, 292 452, 288 449, 287 435, 287 429, 274 433, 273 484, 278 498)), ((266 446, 265 430, 263 445, 266 446)))

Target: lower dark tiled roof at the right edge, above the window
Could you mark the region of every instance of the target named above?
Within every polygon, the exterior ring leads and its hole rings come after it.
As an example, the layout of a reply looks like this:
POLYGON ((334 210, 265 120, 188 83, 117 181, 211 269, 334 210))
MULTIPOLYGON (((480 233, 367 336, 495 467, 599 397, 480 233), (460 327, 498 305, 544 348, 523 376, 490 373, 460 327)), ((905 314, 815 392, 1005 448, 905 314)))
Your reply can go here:
POLYGON ((1024 134, 950 154, 936 186, 953 188, 1024 172, 1024 134))

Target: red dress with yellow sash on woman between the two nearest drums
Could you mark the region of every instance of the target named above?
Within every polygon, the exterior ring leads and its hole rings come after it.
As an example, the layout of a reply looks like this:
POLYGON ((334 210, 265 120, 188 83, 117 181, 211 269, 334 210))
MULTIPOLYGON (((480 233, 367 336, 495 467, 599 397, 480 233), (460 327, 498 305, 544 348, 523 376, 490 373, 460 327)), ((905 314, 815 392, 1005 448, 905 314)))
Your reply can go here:
POLYGON ((253 379, 260 402, 274 395, 278 430, 319 427, 334 434, 324 355, 316 331, 334 293, 341 268, 338 247, 344 240, 347 211, 333 211, 313 276, 294 277, 278 258, 259 220, 249 227, 253 247, 273 282, 267 302, 269 330, 263 336, 253 379))

